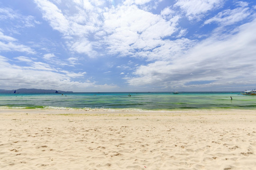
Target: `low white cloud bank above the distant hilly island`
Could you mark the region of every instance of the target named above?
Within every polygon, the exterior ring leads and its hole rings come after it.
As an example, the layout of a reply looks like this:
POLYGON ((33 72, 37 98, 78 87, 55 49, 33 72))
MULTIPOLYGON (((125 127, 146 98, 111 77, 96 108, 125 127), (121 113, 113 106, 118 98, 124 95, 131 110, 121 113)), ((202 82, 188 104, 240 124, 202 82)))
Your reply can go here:
POLYGON ((29 62, 30 66, 24 67, 10 64, 8 58, 0 56, 1 88, 57 88, 75 92, 108 91, 118 88, 117 85, 97 85, 96 82, 89 80, 84 82, 72 80, 73 77, 83 76, 86 74, 85 72, 74 73, 65 70, 56 70, 46 63, 34 62, 26 57, 18 57, 17 59, 29 62))

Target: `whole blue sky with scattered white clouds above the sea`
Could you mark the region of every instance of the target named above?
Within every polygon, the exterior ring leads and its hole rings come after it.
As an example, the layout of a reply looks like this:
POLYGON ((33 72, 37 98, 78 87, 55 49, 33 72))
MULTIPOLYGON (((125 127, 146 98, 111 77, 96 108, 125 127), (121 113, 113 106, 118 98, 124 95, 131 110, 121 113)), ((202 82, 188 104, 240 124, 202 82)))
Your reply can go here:
POLYGON ((1 0, 0 89, 256 88, 255 0, 1 0))

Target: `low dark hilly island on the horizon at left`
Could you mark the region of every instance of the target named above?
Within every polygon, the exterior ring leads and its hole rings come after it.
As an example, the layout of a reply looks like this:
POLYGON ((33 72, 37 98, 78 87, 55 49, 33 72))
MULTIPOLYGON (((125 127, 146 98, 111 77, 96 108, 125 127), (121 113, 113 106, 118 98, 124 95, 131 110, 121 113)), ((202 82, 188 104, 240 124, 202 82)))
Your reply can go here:
POLYGON ((0 93, 14 93, 14 91, 16 91, 16 93, 73 93, 72 91, 61 91, 61 90, 46 90, 46 89, 26 89, 26 88, 20 88, 17 90, 4 90, 4 89, 0 89, 0 93))

